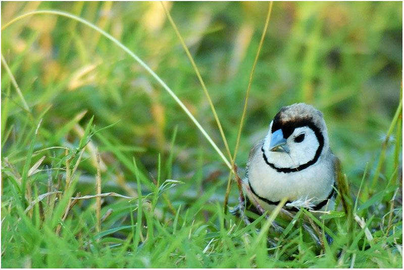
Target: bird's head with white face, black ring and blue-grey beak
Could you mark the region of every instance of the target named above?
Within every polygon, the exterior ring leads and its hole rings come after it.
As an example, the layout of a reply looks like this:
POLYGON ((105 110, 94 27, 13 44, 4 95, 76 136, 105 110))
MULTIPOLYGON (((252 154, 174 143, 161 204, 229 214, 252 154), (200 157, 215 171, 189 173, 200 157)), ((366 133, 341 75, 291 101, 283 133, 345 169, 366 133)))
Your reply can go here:
POLYGON ((263 152, 277 168, 298 168, 314 164, 328 148, 323 114, 312 105, 296 103, 282 107, 271 121, 263 152))

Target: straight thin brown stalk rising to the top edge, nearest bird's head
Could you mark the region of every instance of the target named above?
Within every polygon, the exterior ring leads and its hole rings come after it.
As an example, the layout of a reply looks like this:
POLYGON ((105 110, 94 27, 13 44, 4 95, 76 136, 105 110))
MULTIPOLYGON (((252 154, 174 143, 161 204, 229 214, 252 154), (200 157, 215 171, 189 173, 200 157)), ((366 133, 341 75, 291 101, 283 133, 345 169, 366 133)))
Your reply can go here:
MULTIPOLYGON (((234 154, 233 154, 233 158, 231 159, 232 160, 231 161, 231 168, 233 168, 233 172, 234 172, 234 162, 235 162, 235 159, 236 159, 236 156, 237 156, 238 145, 239 145, 240 137, 241 137, 241 130, 243 128, 244 118, 245 118, 245 114, 247 112, 247 104, 248 104, 249 93, 250 93, 250 90, 251 90, 252 78, 254 77, 254 71, 256 69, 258 58, 259 58, 260 52, 261 52, 261 48, 262 48, 262 45, 264 43, 265 34, 267 33, 269 20, 271 18, 271 13, 272 13, 272 6, 273 6, 273 1, 269 2, 267 19, 265 20, 264 30, 263 30, 262 35, 261 35, 261 40, 260 40, 260 44, 258 46, 256 58, 254 60, 254 64, 252 65, 252 70, 251 70, 251 73, 250 73, 250 76, 249 76, 249 81, 248 81, 248 86, 247 86, 247 94, 245 96, 243 113, 241 115, 240 126, 238 128, 236 146, 234 147, 234 154)), ((229 174, 229 179, 227 180, 226 195, 225 195, 225 198, 224 198, 224 212, 225 213, 227 211, 227 202, 229 200, 230 183, 231 183, 231 172, 229 174)))

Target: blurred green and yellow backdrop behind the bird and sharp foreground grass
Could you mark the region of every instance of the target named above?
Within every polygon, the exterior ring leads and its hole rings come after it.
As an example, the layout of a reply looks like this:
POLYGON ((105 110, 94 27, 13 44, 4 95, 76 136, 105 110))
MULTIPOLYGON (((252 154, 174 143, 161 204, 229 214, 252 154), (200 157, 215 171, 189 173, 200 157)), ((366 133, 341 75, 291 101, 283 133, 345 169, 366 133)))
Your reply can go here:
MULTIPOLYGON (((233 152, 268 3, 165 5, 201 72, 233 152)), ((104 29, 164 80, 224 152, 208 100, 159 2, 2 2, 1 8, 2 26, 30 11, 59 10, 104 29)), ((161 154, 162 181, 185 182, 169 194, 175 209, 185 204, 182 209, 192 207, 190 212, 197 212, 202 206, 194 202, 203 194, 222 204, 228 169, 219 155, 161 85, 116 44, 74 20, 41 14, 3 29, 1 45, 31 110, 24 110, 2 64, 2 168, 7 168, 2 171, 2 205, 13 198, 10 175, 4 172, 23 171, 35 121, 43 119, 34 151, 74 148, 92 116, 95 129, 116 124, 93 136, 84 152, 76 187, 82 195, 95 192, 98 146, 103 192, 137 196, 132 156, 144 179, 153 183, 161 154)), ((399 103, 401 80, 402 2, 275 2, 251 85, 236 164, 245 166, 249 148, 266 135, 281 106, 307 102, 324 113, 331 148, 356 194, 367 163, 365 183, 374 175, 399 103)), ((396 140, 401 135, 392 136, 387 145, 376 191, 394 176, 396 140)), ((402 146, 399 160, 401 152, 402 146)), ((56 185, 65 150, 36 153, 31 166, 42 155, 46 157, 39 169, 55 168, 51 179, 56 185)), ((401 181, 400 164, 393 183, 401 181)), ((33 177, 38 194, 46 192, 47 181, 46 171, 33 177)), ((143 195, 150 191, 147 184, 142 189, 143 195)), ((233 185, 231 205, 237 197, 233 185)), ((106 204, 113 201, 106 200, 106 204)), ((84 211, 89 202, 77 205, 84 211)), ((209 220, 217 208, 204 206, 201 214, 209 220)), ((166 206, 159 207, 171 214, 166 206)), ((122 218, 128 209, 122 209, 114 212, 107 228, 128 224, 122 218)))

